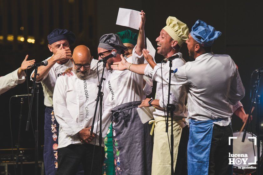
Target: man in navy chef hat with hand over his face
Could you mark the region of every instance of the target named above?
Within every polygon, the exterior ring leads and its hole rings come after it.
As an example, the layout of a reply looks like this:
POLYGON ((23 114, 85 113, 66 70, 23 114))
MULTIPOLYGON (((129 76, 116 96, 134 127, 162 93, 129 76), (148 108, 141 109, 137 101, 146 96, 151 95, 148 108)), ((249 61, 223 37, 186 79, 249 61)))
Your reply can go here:
MULTIPOLYGON (((44 167, 46 175, 55 175, 57 169, 57 148, 59 124, 53 110, 53 92, 57 78, 72 68, 70 45, 75 42, 75 34, 67 29, 54 29, 48 36, 49 51, 53 53, 47 58, 47 66, 38 68, 36 81, 41 82, 44 92, 45 120, 44 120, 44 167)), ((91 65, 92 67, 92 65, 91 65)), ((31 74, 34 78, 34 71, 31 74)), ((32 80, 32 79, 31 79, 32 80)), ((82 169, 80 167, 80 169, 82 169)), ((81 174, 81 173, 80 173, 81 174)))

